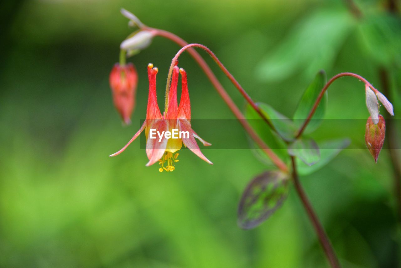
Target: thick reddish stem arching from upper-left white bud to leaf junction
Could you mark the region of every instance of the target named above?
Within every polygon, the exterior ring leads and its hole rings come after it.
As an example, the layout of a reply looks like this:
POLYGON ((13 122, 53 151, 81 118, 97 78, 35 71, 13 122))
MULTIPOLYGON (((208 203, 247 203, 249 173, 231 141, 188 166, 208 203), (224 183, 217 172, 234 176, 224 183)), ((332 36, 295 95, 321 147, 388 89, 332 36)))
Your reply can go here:
MULTIPOLYGON (((170 39, 182 47, 185 47, 186 45, 188 45, 188 43, 186 41, 184 41, 180 37, 174 35, 173 33, 168 32, 168 31, 163 31, 160 29, 154 29, 154 28, 150 28, 150 27, 144 27, 142 29, 148 29, 148 30, 152 29, 152 30, 154 30, 155 35, 159 35, 159 36, 165 37, 167 39, 170 39)), ((217 80, 216 76, 213 74, 209 65, 207 65, 206 61, 202 58, 202 56, 198 52, 196 52, 196 50, 193 49, 192 47, 187 47, 187 49, 188 49, 188 53, 190 53, 190 55, 195 59, 195 61, 199 64, 199 66, 201 66, 203 72, 205 72, 206 76, 209 78, 209 80, 211 81, 213 86, 216 88, 216 90, 220 94, 221 98, 223 98, 223 100, 225 101, 227 106, 229 106, 229 108, 231 109, 231 111, 233 112, 235 117, 237 117, 239 123, 241 123, 241 125, 245 129, 245 131, 247 131, 247 133, 251 136, 251 138, 257 143, 257 145, 263 150, 263 152, 271 159, 271 161, 273 162, 273 164, 275 164, 275 166, 277 166, 277 168, 279 168, 283 172, 288 172, 288 168, 287 168, 286 164, 269 148, 269 146, 267 146, 267 144, 259 137, 259 135, 257 135, 257 133, 253 130, 251 125, 249 125, 249 123, 245 119, 244 115, 241 113, 241 111, 239 110, 237 105, 235 105, 234 101, 227 94, 227 91, 220 84, 219 80, 217 80)), ((175 60, 174 60, 174 62, 175 62, 175 60)), ((174 64, 174 63, 172 62, 172 64, 174 64)), ((174 65, 173 65, 173 67, 174 67, 174 65)), ((246 92, 245 92, 245 94, 246 94, 246 92)), ((249 98, 249 100, 250 100, 250 98, 249 98)), ((256 104, 255 104, 255 107, 257 107, 256 104)))

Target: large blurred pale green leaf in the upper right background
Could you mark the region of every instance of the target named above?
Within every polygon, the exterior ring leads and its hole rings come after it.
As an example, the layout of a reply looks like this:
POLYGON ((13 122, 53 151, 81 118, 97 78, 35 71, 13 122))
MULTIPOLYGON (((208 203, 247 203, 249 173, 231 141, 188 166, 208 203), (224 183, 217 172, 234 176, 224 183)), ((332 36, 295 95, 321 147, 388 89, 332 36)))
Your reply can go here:
POLYGON ((311 77, 330 69, 353 25, 352 15, 344 8, 312 13, 263 57, 257 76, 277 82, 296 73, 311 77))

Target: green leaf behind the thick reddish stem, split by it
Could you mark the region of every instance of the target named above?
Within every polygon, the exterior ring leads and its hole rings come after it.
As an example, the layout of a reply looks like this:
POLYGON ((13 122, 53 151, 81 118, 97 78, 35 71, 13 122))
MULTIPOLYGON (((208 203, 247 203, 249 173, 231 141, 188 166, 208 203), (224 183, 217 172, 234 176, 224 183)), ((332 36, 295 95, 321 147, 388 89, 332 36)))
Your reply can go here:
MULTIPOLYGON (((287 146, 284 141, 278 137, 277 134, 271 131, 271 128, 267 123, 261 118, 261 116, 252 108, 251 105, 247 104, 245 107, 245 118, 255 132, 263 139, 263 141, 269 145, 269 147, 282 159, 288 158, 287 146)), ((255 144, 255 142, 249 138, 251 147, 254 148, 253 151, 256 157, 261 160, 264 164, 272 164, 270 158, 268 158, 262 149, 255 144)))

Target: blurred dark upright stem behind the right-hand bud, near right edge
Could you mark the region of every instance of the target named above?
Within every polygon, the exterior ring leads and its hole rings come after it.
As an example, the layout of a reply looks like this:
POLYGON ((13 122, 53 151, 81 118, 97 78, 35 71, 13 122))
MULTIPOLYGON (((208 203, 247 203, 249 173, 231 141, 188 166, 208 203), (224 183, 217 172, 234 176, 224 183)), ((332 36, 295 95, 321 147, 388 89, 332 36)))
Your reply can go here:
MULTIPOLYGON (((381 68, 379 70, 379 76, 381 80, 381 85, 383 88, 383 92, 386 96, 390 97, 390 90, 389 90, 389 78, 387 70, 381 68)), ((386 120, 388 119, 388 116, 386 120)), ((393 124, 393 120, 389 119, 386 121, 386 132, 387 132, 387 144, 389 146, 389 154, 391 160, 391 166, 393 168, 394 174, 394 191, 395 191, 395 198, 397 202, 397 216, 398 221, 401 222, 401 159, 399 159, 399 155, 397 154, 397 150, 394 148, 399 148, 397 145, 397 133, 396 133, 395 126, 393 124)))

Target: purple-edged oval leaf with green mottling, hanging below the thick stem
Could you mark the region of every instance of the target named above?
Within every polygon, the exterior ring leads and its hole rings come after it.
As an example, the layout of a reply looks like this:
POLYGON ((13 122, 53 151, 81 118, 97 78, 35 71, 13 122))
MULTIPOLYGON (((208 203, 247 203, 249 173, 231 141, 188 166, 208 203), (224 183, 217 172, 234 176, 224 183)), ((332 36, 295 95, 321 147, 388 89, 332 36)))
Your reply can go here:
POLYGON ((252 229, 267 220, 288 195, 288 175, 267 171, 249 182, 238 206, 238 225, 252 229))

